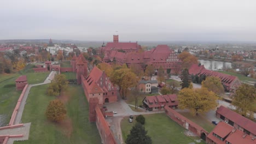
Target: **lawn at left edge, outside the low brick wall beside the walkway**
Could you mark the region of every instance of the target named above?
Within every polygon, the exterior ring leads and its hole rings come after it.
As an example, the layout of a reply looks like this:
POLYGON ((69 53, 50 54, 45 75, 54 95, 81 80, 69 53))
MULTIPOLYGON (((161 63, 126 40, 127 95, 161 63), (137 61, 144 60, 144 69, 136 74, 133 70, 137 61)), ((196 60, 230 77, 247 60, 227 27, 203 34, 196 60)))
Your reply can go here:
POLYGON ((21 91, 16 91, 15 80, 19 74, 0 75, 0 127, 9 123, 10 117, 20 97, 21 91))

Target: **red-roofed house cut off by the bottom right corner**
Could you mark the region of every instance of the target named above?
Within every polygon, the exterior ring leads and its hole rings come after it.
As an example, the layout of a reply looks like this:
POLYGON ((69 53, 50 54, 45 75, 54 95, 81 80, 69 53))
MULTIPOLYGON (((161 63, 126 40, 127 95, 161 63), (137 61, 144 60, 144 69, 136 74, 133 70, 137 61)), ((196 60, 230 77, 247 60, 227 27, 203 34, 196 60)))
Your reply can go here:
POLYGON ((225 122, 219 122, 207 135, 208 144, 255 144, 255 137, 249 136, 225 122))

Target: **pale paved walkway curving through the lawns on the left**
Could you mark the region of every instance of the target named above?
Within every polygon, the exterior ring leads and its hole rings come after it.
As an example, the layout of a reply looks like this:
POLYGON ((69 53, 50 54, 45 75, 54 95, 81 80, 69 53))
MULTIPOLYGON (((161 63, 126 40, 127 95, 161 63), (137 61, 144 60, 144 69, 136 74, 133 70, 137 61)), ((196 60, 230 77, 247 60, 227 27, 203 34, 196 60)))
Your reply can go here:
MULTIPOLYGON (((38 84, 34 84, 34 85, 28 85, 25 93, 24 93, 24 98, 21 101, 17 116, 15 118, 14 121, 14 125, 16 124, 20 124, 21 123, 21 118, 22 118, 22 113, 24 111, 24 107, 26 104, 26 100, 27 100, 27 96, 28 94, 30 94, 30 89, 33 86, 39 86, 39 85, 45 85, 47 83, 50 83, 51 80, 54 79, 55 76, 55 71, 51 71, 51 73, 49 74, 48 77, 46 77, 46 79, 44 80, 43 83, 38 83, 38 84)), ((13 129, 4 129, 4 130, 0 130, 0 135, 19 135, 22 134, 22 137, 9 137, 7 143, 8 144, 13 144, 14 141, 20 141, 20 140, 28 140, 28 136, 30 134, 30 125, 31 123, 25 123, 24 127, 19 127, 19 128, 13 128, 13 129)))

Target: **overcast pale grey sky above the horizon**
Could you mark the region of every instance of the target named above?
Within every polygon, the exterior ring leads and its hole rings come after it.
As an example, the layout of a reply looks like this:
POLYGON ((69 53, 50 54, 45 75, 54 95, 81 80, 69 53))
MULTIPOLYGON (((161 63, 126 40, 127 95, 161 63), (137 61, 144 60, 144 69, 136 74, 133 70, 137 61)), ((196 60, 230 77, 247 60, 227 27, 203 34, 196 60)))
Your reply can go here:
POLYGON ((256 41, 255 0, 0 1, 0 39, 256 41), (118 31, 118 32, 116 32, 118 31))

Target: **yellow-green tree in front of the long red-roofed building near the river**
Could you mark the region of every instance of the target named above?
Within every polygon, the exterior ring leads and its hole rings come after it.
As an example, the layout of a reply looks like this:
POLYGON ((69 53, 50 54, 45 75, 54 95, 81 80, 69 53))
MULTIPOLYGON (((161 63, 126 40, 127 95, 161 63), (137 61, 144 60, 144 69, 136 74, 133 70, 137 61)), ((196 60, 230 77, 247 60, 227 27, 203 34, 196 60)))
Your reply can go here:
POLYGON ((212 91, 216 94, 224 93, 222 82, 217 76, 206 77, 205 81, 202 81, 202 87, 205 87, 208 91, 212 91))

